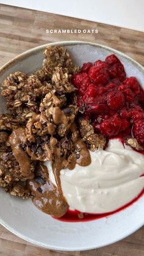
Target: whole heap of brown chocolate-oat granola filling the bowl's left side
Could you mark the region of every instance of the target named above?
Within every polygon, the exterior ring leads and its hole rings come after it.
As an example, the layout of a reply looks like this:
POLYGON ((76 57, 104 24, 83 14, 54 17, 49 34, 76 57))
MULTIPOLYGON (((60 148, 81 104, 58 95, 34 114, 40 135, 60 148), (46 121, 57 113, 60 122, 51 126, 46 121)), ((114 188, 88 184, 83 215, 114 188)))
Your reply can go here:
POLYGON ((76 87, 71 82, 77 71, 67 49, 48 46, 39 70, 31 75, 16 71, 2 82, 1 95, 10 114, 0 116, 0 186, 13 196, 32 196, 26 183, 30 177, 23 175, 23 164, 13 150, 15 136, 21 140, 17 149, 29 158, 31 178, 36 179, 39 161, 73 169, 79 157, 74 143, 80 136, 90 150, 105 147, 105 137, 95 134, 92 125, 79 117, 82 108, 77 107, 76 87))

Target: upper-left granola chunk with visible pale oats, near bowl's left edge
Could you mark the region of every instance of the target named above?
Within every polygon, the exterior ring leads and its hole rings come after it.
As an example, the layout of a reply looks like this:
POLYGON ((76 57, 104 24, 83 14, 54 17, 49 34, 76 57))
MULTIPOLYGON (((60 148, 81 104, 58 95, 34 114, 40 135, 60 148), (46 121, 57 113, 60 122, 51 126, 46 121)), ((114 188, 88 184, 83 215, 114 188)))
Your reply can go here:
MULTIPOLYGON (((20 72, 15 74, 17 73, 20 72)), ((19 80, 16 80, 15 74, 11 74, 2 83, 2 96, 7 99, 7 108, 18 116, 18 120, 26 122, 32 114, 39 112, 41 97, 45 97, 52 85, 46 81, 41 82, 35 75, 27 77, 24 73, 22 73, 23 76, 21 75, 23 79, 18 76, 19 80), (11 79, 13 79, 13 83, 17 82, 13 87, 9 86, 11 79)))

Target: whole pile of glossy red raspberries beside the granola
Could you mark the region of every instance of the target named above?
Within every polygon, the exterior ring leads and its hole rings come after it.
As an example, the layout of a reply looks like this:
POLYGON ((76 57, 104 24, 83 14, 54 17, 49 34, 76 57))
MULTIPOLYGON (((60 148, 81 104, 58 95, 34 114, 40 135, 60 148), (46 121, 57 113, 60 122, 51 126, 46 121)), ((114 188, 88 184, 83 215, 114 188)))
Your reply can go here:
POLYGON ((84 119, 92 120, 95 131, 108 137, 133 133, 144 145, 144 91, 135 77, 125 77, 123 64, 114 54, 105 62, 83 64, 81 73, 72 78, 77 104, 84 119))

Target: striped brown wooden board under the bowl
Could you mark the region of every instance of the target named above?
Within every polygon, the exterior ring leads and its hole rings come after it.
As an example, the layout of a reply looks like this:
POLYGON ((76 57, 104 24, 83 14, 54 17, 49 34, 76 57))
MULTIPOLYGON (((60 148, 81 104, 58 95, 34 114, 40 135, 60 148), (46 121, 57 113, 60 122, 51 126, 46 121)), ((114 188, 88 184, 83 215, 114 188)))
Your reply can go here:
MULTIPOLYGON (((0 66, 27 49, 64 40, 101 43, 144 65, 144 32, 0 4, 0 66), (46 34, 46 29, 98 29, 98 34, 46 34)), ((55 252, 33 246, 0 225, 0 255, 144 256, 144 227, 128 238, 100 249, 55 252)))

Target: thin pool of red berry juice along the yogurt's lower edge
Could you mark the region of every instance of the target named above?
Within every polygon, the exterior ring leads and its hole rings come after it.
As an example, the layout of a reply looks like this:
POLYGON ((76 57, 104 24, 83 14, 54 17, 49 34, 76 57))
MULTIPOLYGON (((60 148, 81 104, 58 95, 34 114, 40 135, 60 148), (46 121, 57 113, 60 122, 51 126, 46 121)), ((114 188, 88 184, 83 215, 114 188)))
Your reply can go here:
MULTIPOLYGON (((142 176, 144 176, 144 174, 142 176)), ((54 219, 57 219, 58 221, 65 221, 65 222, 94 221, 95 219, 109 217, 112 214, 118 213, 119 211, 126 209, 127 207, 129 207, 133 203, 135 203, 137 200, 139 200, 140 197, 142 197, 142 196, 144 196, 144 189, 131 202, 127 203, 126 205, 124 205, 121 208, 118 208, 115 211, 111 211, 110 213, 90 214, 90 213, 81 213, 80 211, 77 211, 77 210, 72 211, 69 209, 67 211, 67 213, 65 215, 63 215, 61 218, 54 218, 54 219)))

